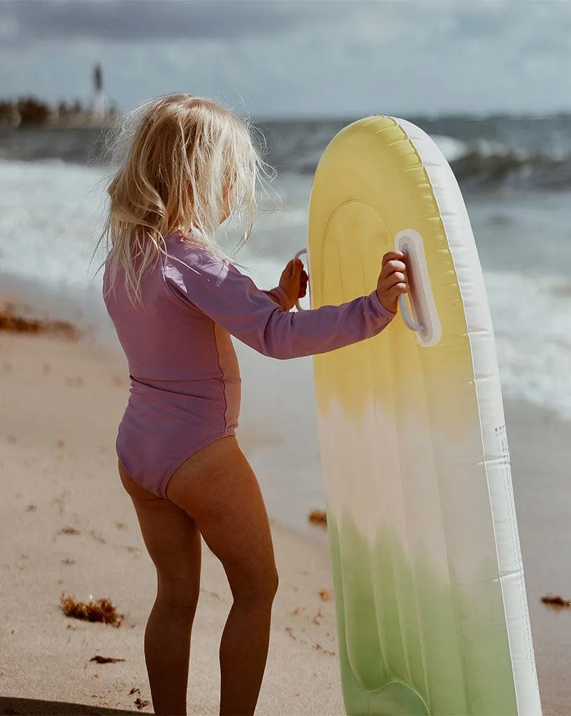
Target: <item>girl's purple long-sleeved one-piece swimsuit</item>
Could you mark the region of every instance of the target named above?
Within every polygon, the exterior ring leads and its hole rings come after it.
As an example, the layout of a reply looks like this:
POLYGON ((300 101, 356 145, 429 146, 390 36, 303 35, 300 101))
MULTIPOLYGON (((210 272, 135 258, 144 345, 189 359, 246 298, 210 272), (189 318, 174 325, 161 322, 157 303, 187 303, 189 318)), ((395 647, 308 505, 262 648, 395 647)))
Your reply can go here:
POLYGON ((133 305, 125 275, 104 299, 131 379, 117 455, 131 477, 165 497, 175 470, 192 453, 234 435, 240 372, 230 335, 273 358, 326 353, 379 334, 394 314, 376 291, 341 306, 289 312, 283 289, 260 291, 232 264, 173 234, 142 277, 133 305), (270 295, 280 302, 276 304, 270 295))

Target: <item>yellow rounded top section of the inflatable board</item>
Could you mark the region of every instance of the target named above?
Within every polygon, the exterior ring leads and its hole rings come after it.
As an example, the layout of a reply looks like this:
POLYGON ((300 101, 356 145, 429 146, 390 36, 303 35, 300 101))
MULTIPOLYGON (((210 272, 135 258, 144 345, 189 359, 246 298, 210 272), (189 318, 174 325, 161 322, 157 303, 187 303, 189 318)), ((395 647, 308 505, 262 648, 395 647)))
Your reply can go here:
MULTIPOLYGON (((343 303, 374 290, 384 253, 394 249, 396 234, 407 228, 415 229, 424 239, 442 324, 440 345, 446 346, 446 351, 423 349, 416 343, 414 333, 397 320, 371 341, 316 357, 318 401, 325 404, 336 398, 348 415, 357 415, 369 400, 369 372, 361 373, 366 379, 335 385, 327 381, 326 390, 321 390, 323 369, 328 374, 335 371, 348 375, 355 366, 369 366, 372 360, 374 373, 379 376, 376 395, 381 400, 384 397, 387 404, 392 402, 393 385, 382 377, 393 374, 394 356, 399 360, 399 378, 406 383, 400 385, 401 400, 410 395, 414 403, 417 382, 424 372, 441 376, 432 386, 445 399, 451 385, 457 390, 462 383, 458 373, 472 371, 452 257, 420 159, 391 117, 371 117, 349 125, 327 147, 313 183, 308 240, 313 307, 343 303), (390 182, 384 180, 386 177, 391 178, 390 182), (387 334, 394 351, 380 345, 386 344, 387 334), (443 356, 446 365, 442 363, 443 356)), ((466 405, 477 420, 473 387, 467 386, 466 405)), ((452 430, 454 425, 452 421, 452 430)))

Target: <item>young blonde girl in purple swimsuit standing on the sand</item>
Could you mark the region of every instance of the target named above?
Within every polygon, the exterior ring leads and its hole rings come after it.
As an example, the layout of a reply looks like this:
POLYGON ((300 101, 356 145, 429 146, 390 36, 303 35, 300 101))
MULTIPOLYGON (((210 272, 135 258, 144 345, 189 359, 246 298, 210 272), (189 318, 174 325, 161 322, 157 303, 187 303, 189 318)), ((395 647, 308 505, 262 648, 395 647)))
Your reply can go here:
POLYGON ((109 185, 104 299, 131 379, 119 474, 157 569, 145 631, 152 702, 157 714, 186 714, 202 536, 233 594, 220 714, 251 715, 278 574, 260 488, 234 437, 240 373, 230 335, 286 359, 379 334, 406 291, 404 256, 384 257, 369 296, 291 313, 306 294, 301 261, 260 291, 216 243, 229 216, 243 221, 243 241, 253 226, 260 160, 243 122, 177 94, 142 107, 129 136, 109 185))

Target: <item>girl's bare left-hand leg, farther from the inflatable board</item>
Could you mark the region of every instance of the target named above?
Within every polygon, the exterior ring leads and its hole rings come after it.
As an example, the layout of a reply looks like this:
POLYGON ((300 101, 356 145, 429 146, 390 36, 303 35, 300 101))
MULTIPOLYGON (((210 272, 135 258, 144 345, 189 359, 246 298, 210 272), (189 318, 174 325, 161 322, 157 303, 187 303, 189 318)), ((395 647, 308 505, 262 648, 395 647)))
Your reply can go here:
POLYGON ((190 632, 200 593, 200 533, 184 510, 137 485, 120 464, 119 475, 157 568, 157 599, 145 630, 153 707, 161 716, 185 716, 190 632))

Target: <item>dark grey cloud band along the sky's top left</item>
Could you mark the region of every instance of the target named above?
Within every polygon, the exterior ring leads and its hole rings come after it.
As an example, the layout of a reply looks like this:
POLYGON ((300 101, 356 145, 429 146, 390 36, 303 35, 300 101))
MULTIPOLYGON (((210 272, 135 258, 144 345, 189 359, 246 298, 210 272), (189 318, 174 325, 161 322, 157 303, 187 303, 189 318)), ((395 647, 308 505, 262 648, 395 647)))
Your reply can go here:
POLYGON ((4 42, 233 39, 288 32, 336 3, 271 0, 4 0, 4 42))

